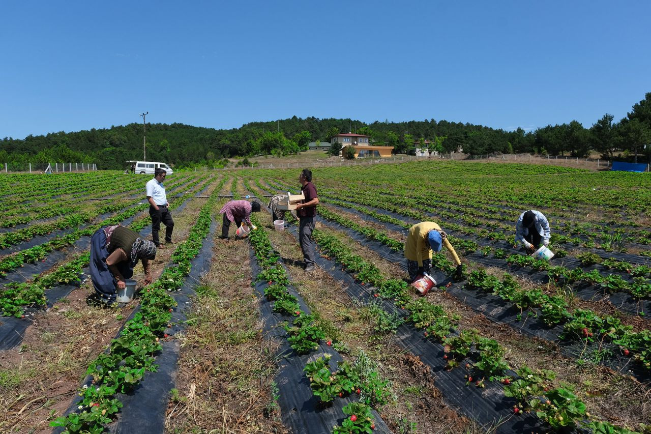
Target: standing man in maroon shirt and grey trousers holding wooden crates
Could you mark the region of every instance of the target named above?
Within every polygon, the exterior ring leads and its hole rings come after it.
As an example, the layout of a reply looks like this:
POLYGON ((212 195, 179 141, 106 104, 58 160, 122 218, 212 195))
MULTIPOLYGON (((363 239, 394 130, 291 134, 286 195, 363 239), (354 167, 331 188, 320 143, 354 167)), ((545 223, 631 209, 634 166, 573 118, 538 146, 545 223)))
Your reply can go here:
POLYGON ((312 244, 312 231, 314 231, 314 217, 316 216, 316 204, 319 198, 316 195, 316 187, 312 184, 312 171, 303 169, 298 177, 301 183, 301 192, 305 195, 305 200, 296 205, 296 216, 300 222, 298 230, 298 242, 303 250, 303 260, 305 261, 305 271, 314 270, 314 245, 312 244))

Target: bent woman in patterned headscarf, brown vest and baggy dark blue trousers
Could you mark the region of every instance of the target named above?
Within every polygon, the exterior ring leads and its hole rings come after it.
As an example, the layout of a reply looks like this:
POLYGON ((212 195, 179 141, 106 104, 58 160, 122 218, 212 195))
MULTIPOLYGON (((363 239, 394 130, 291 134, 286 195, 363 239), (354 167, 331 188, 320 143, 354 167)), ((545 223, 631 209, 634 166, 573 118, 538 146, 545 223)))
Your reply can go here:
POLYGON ((156 257, 156 244, 120 225, 98 229, 90 239, 90 279, 95 291, 106 302, 115 302, 116 288, 124 289, 124 280, 133 276, 140 260, 145 283, 152 282, 150 261, 156 257))

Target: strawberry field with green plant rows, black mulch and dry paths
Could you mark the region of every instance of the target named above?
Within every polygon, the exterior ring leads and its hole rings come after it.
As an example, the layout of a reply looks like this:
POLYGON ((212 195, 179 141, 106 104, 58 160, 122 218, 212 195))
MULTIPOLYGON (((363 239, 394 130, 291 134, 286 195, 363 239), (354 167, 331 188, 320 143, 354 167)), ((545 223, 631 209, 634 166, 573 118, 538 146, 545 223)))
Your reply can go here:
MULTIPOLYGON (((426 161, 314 169, 317 270, 268 195, 298 169, 174 173, 176 244, 124 307, 87 298, 89 237, 150 234, 145 177, 0 177, 3 432, 651 432, 651 179, 426 161), (217 239, 253 195, 258 230, 217 239), (551 261, 515 246, 549 219, 551 261), (437 222, 417 297, 403 244, 437 222), (143 427, 143 420, 146 426, 143 427)), ((147 178, 148 179, 148 178, 147 178)), ((142 272, 136 270, 135 276, 142 272)))

